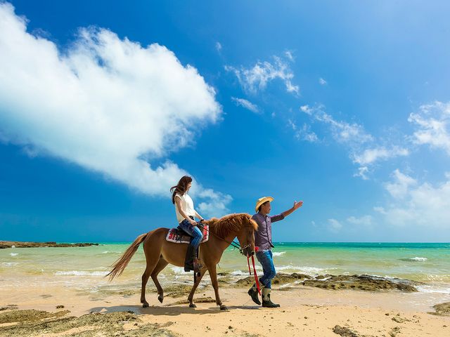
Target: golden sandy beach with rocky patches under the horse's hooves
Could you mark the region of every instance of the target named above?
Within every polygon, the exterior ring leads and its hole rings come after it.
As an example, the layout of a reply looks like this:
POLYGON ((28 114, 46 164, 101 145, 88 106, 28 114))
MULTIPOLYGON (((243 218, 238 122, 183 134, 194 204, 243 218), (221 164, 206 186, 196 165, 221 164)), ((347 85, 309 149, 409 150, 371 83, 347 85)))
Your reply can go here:
POLYGON ((188 284, 172 293, 166 289, 162 304, 150 284, 149 308, 141 308, 138 287, 85 293, 48 281, 17 291, 2 288, 0 335, 450 336, 449 308, 436 315, 438 299, 428 293, 280 285, 273 298, 281 308, 268 309, 252 303, 244 286, 224 285, 220 293, 228 310, 221 311, 205 283, 195 296, 197 308, 185 303, 188 284))

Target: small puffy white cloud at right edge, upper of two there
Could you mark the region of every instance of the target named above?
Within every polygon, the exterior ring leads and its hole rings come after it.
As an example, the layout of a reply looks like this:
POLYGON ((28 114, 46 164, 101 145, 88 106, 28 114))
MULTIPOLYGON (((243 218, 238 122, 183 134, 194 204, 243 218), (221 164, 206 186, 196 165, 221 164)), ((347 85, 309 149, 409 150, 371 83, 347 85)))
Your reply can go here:
POLYGON ((419 112, 409 115, 408 121, 416 124, 414 143, 428 144, 450 155, 450 103, 421 105, 419 112))

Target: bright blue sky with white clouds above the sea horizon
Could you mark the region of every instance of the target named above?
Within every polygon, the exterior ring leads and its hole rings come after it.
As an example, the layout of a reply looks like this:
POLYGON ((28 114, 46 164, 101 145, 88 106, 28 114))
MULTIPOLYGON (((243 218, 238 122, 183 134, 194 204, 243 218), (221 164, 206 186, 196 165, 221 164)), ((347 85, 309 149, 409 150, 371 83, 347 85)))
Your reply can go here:
POLYGON ((272 214, 275 242, 450 241, 448 1, 0 1, 0 239, 272 214))

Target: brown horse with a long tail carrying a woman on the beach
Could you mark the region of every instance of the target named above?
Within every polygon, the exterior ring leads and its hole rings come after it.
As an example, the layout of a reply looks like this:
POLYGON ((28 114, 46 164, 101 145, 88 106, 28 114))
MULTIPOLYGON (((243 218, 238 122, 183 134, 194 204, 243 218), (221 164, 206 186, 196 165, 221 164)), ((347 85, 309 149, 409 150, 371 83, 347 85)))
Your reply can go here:
MULTIPOLYGON (((226 310, 226 306, 221 303, 219 297, 219 284, 217 282, 216 265, 219 263, 222 253, 226 247, 230 245, 235 237, 238 238, 241 247, 244 247, 242 253, 245 256, 250 256, 255 253, 255 237, 254 232, 257 230, 257 223, 252 220, 250 214, 239 213, 224 216, 224 218, 212 218, 205 221, 207 225, 210 225, 210 238, 207 242, 200 245, 200 262, 203 267, 200 269, 200 277, 197 277, 197 281, 189 293, 189 307, 195 308, 193 303, 193 297, 195 289, 197 289, 205 272, 210 272, 212 286, 216 296, 216 303, 220 306, 221 310, 226 310)), ((164 291, 158 282, 158 274, 169 263, 177 265, 179 267, 184 266, 184 258, 186 256, 186 250, 188 244, 175 244, 166 240, 168 228, 157 228, 146 234, 141 234, 134 240, 131 246, 122 257, 117 260, 111 267, 113 270, 106 276, 112 280, 114 277, 119 276, 127 267, 129 261, 133 257, 134 253, 139 248, 139 244, 143 242, 143 251, 146 254, 146 270, 142 275, 142 289, 141 289, 141 303, 143 308, 148 307, 146 301, 146 284, 148 277, 152 277, 156 288, 158 289, 158 300, 162 303, 164 299, 164 291)))

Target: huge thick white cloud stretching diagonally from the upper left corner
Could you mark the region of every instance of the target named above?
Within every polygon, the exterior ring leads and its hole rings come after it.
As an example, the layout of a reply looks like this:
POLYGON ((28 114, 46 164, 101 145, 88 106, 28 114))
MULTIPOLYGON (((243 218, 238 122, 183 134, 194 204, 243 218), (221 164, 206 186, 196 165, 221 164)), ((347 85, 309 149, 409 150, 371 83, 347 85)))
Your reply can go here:
MULTIPOLYGON (((214 88, 165 46, 89 28, 61 51, 26 25, 0 4, 1 139, 168 196, 186 172, 147 160, 164 161, 191 143, 194 129, 219 119, 214 88)), ((207 202, 229 202, 215 193, 207 202)))

